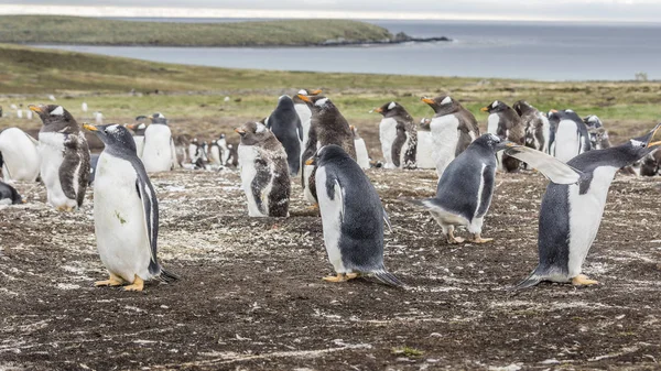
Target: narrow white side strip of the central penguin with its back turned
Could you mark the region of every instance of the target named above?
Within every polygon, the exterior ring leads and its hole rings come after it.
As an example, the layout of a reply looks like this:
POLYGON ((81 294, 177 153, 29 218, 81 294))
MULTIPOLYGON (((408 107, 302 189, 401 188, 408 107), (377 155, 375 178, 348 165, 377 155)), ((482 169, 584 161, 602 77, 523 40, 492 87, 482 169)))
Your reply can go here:
POLYGON ((336 273, 347 273, 342 261, 342 251, 339 250, 343 210, 342 188, 339 185, 335 185, 334 199, 328 197, 328 193, 326 192, 326 170, 323 166, 317 168, 315 179, 319 211, 322 214, 322 227, 324 229, 324 244, 326 245, 328 260, 336 273))

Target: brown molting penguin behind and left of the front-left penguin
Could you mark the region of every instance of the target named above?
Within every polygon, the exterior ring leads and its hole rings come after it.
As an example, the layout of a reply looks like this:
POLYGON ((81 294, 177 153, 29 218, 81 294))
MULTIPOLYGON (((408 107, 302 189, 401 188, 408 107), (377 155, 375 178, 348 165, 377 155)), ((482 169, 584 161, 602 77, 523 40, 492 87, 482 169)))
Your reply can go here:
POLYGON ((48 204, 58 210, 83 206, 89 181, 89 146, 76 119, 62 106, 29 106, 39 114, 40 173, 48 204))

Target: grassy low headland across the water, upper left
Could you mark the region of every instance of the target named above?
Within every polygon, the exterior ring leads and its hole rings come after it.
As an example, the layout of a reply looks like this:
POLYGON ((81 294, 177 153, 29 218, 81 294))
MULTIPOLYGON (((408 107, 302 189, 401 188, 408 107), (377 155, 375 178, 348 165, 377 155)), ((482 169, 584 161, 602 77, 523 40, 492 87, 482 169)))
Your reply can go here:
POLYGON ((0 42, 89 45, 260 46, 308 45, 328 40, 391 39, 358 21, 286 20, 237 23, 163 23, 79 17, 0 17, 0 42))

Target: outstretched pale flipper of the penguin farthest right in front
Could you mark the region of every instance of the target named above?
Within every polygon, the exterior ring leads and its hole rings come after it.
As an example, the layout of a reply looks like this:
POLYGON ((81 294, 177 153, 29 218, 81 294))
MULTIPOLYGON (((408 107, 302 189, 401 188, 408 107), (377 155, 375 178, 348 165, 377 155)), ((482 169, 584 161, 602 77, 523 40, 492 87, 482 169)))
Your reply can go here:
POLYGON ((583 172, 565 164, 556 157, 524 145, 508 144, 505 153, 537 168, 555 184, 575 184, 578 183, 583 175, 583 172))

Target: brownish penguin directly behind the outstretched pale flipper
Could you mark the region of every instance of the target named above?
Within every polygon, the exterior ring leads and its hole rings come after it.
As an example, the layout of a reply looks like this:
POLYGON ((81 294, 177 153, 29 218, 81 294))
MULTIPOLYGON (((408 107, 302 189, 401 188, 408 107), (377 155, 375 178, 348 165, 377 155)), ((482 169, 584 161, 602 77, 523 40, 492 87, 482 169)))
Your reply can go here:
MULTIPOLYGON (((480 109, 489 112, 487 120, 487 132, 507 139, 517 144, 525 143, 525 127, 519 113, 501 100, 494 100, 489 106, 480 109)), ((509 157, 507 154, 498 153, 498 167, 500 171, 511 173, 519 170, 521 162, 509 157)))

